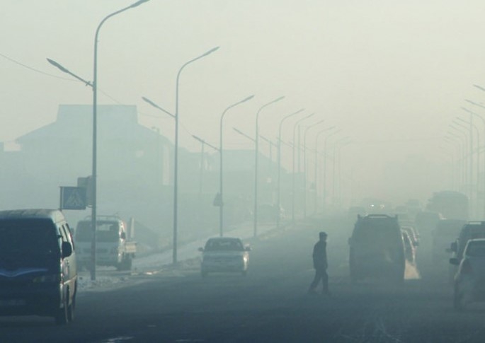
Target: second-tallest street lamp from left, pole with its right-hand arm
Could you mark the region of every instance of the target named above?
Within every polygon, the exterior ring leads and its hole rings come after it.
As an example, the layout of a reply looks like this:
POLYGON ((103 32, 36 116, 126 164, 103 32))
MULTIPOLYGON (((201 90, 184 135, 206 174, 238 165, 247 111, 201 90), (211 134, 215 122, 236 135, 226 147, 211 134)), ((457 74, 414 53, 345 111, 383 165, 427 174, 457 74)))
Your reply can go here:
POLYGON ((177 80, 176 80, 176 92, 175 92, 175 146, 174 146, 174 163, 173 163, 173 254, 172 254, 172 262, 173 264, 177 263, 177 211, 178 211, 178 86, 180 75, 183 69, 188 66, 188 64, 201 59, 202 57, 206 57, 208 54, 212 54, 215 52, 219 47, 214 47, 211 50, 201 54, 194 59, 190 59, 190 61, 184 63, 180 69, 178 69, 177 73, 177 80))

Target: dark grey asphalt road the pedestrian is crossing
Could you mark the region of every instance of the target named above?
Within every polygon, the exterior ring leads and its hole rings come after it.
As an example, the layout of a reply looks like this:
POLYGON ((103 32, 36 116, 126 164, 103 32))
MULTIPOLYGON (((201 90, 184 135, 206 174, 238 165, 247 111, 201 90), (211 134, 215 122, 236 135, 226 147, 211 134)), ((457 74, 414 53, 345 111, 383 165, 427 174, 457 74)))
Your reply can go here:
POLYGON ((250 270, 202 279, 197 261, 86 291, 76 320, 0 318, 0 342, 485 342, 485 305, 452 309, 446 273, 408 266, 403 285, 351 284, 351 223, 321 221, 252 240, 250 270), (331 296, 312 296, 312 247, 329 233, 331 296), (421 276, 420 276, 421 274, 421 276))

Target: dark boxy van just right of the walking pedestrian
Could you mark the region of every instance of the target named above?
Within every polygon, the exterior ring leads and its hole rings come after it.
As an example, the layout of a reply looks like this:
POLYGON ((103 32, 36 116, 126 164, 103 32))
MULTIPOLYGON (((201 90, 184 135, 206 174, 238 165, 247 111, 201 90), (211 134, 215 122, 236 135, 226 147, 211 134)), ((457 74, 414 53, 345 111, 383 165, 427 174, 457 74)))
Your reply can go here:
POLYGON ((404 281, 404 241, 397 216, 358 216, 350 245, 350 279, 390 277, 404 281))

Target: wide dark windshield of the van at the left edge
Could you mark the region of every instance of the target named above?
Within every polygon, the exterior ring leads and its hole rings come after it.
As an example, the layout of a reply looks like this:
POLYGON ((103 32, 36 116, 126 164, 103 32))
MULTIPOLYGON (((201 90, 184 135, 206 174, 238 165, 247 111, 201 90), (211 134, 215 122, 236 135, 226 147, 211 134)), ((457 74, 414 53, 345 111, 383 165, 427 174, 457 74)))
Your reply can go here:
POLYGON ((0 220, 0 257, 57 256, 59 242, 48 219, 0 220))

